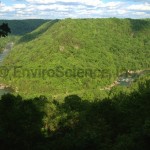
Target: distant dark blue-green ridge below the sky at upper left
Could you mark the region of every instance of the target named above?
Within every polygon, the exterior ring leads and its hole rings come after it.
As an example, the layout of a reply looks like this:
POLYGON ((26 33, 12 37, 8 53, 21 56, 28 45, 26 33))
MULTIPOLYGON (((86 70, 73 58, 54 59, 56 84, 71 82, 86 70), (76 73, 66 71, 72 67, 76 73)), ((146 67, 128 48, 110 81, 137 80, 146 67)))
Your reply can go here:
POLYGON ((0 24, 3 22, 8 23, 13 35, 23 35, 31 32, 48 20, 42 19, 27 19, 27 20, 0 20, 0 24))

